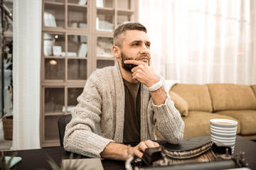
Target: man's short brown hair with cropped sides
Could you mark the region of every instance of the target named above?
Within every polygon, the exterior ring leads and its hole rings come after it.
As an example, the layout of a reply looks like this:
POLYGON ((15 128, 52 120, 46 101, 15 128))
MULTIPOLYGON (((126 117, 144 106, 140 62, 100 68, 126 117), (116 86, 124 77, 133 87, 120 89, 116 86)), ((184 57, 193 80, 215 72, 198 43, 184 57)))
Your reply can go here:
POLYGON ((146 27, 141 23, 124 23, 114 30, 114 45, 122 47, 123 37, 121 35, 127 30, 142 30, 146 33, 146 27))

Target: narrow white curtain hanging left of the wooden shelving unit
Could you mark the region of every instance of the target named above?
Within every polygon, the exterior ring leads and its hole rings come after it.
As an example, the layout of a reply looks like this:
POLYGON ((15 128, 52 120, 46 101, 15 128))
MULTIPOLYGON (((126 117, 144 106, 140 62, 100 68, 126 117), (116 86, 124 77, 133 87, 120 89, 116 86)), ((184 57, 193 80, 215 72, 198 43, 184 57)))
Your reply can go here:
POLYGON ((12 149, 40 148, 42 1, 14 1, 14 132, 12 149))

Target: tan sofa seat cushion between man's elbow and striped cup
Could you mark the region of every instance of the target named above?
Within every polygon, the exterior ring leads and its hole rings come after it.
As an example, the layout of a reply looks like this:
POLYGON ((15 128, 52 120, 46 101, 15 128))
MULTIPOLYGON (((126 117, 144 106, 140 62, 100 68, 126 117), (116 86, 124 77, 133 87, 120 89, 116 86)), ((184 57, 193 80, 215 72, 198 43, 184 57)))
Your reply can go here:
POLYGON ((199 111, 190 111, 187 117, 182 117, 185 123, 183 137, 210 136, 210 119, 223 118, 238 121, 237 134, 240 134, 239 120, 228 115, 220 115, 218 113, 208 113, 199 111))

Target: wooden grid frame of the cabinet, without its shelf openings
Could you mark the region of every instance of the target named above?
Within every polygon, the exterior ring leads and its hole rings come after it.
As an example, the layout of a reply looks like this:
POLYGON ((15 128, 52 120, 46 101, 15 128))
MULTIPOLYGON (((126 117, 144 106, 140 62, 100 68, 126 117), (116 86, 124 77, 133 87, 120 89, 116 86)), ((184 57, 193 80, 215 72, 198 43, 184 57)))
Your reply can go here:
MULTIPOLYGON (((87 0, 87 4, 85 6, 81 6, 78 4, 68 3, 68 0, 63 0, 63 2, 54 2, 50 0, 43 0, 42 4, 42 16, 44 16, 45 5, 47 6, 62 6, 65 8, 63 11, 64 16, 64 26, 63 27, 45 27, 44 21, 42 17, 42 35, 41 35, 41 147, 55 147, 60 146, 58 137, 55 140, 46 140, 46 116, 57 116, 57 115, 65 115, 69 114, 67 112, 68 106, 68 88, 83 88, 86 83, 86 79, 84 80, 69 80, 68 79, 68 60, 87 60, 87 78, 90 77, 90 74, 95 71, 97 68, 97 60, 106 60, 106 61, 115 61, 114 57, 96 57, 96 48, 97 48, 97 37, 106 37, 112 38, 113 31, 104 31, 104 30, 96 30, 96 17, 97 17, 97 0, 87 0), (73 6, 74 8, 87 8, 87 28, 71 28, 68 27, 68 7, 73 6), (63 34, 65 35, 65 57, 54 57, 54 56, 45 56, 44 55, 44 33, 50 34, 63 34), (87 57, 67 57, 68 54, 68 35, 86 35, 87 36, 87 57), (60 58, 65 60, 65 79, 45 79, 45 59, 56 59, 60 58), (64 107, 65 112, 60 113, 45 113, 45 90, 46 88, 63 88, 64 89, 64 107)), ((106 0, 102 0, 106 1, 106 0)), ((112 0, 113 8, 100 8, 101 10, 112 10, 114 11, 114 29, 117 28, 117 13, 127 13, 134 15, 134 21, 137 21, 137 13, 138 13, 138 4, 139 0, 131 0, 134 2, 134 6, 132 10, 129 9, 119 9, 117 8, 117 3, 122 1, 129 0, 112 0)), ((61 8, 62 8, 61 7, 61 8)), ((56 122, 57 123, 57 122, 56 122)))

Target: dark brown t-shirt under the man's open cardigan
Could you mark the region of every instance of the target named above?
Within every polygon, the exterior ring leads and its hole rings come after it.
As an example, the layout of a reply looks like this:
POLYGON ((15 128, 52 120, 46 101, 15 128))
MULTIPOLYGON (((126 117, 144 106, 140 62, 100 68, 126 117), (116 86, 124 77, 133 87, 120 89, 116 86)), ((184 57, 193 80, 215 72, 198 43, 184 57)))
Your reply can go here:
POLYGON ((124 81, 124 143, 140 142, 140 83, 124 81))

